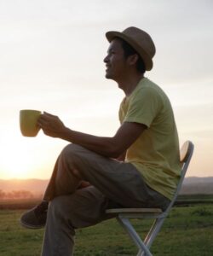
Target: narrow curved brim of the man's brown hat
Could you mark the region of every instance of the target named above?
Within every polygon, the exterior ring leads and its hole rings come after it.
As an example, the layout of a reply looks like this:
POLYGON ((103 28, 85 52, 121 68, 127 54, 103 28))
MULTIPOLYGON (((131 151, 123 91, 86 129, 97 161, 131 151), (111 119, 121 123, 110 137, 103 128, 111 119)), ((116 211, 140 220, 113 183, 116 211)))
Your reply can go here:
POLYGON ((122 38, 124 41, 130 44, 135 49, 135 51, 141 56, 147 71, 153 68, 153 61, 150 58, 150 56, 147 54, 147 52, 144 49, 141 48, 141 45, 137 44, 134 40, 132 40, 132 38, 126 36, 122 32, 117 32, 117 31, 107 32, 106 38, 109 41, 109 43, 111 43, 113 38, 122 38))

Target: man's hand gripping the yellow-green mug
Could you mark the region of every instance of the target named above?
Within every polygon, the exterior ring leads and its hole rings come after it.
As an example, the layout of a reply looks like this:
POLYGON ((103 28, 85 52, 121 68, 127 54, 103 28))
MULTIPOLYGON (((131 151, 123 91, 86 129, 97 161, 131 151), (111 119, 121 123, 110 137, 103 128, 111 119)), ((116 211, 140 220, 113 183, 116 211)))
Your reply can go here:
POLYGON ((37 125, 41 127, 43 133, 50 137, 61 137, 66 132, 66 126, 61 120, 50 113, 44 112, 37 120, 37 125))

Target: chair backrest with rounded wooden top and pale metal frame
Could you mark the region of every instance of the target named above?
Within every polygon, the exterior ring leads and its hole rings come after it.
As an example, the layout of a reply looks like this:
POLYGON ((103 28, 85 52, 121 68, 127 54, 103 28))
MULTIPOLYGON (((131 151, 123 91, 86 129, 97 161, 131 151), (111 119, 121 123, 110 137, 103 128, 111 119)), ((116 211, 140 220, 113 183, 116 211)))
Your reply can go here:
POLYGON ((187 167, 189 166, 190 160, 193 156, 193 143, 190 141, 187 141, 185 143, 183 143, 182 147, 181 147, 181 151, 180 151, 180 161, 181 161, 181 177, 179 180, 179 183, 177 185, 176 188, 176 193, 172 199, 172 201, 170 202, 170 206, 167 207, 166 211, 164 213, 169 213, 170 212, 170 208, 174 205, 177 195, 179 194, 180 190, 181 190, 181 186, 182 186, 182 182, 184 180, 184 177, 186 175, 187 172, 187 167))

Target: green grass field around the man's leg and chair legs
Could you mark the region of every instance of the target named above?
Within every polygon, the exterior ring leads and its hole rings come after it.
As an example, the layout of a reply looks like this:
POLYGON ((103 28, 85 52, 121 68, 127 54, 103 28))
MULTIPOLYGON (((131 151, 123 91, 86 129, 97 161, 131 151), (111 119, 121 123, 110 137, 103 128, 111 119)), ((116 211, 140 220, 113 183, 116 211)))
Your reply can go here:
MULTIPOLYGON (((0 210, 0 255, 38 256, 41 252, 43 230, 20 227, 24 210, 0 210)), ((150 221, 134 220, 141 236, 150 221)), ((136 255, 137 249, 115 219, 93 227, 77 230, 76 256, 136 255)), ((212 256, 213 204, 174 207, 153 243, 153 255, 212 256)))

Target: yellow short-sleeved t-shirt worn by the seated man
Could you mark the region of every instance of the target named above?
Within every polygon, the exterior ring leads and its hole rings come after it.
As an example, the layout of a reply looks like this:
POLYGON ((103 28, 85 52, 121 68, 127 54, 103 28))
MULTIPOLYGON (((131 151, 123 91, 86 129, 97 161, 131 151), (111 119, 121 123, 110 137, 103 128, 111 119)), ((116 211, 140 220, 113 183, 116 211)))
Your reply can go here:
POLYGON ((176 122, 170 100, 147 78, 141 79, 119 109, 120 122, 147 125, 127 150, 126 162, 133 164, 149 187, 172 199, 181 173, 176 122))

